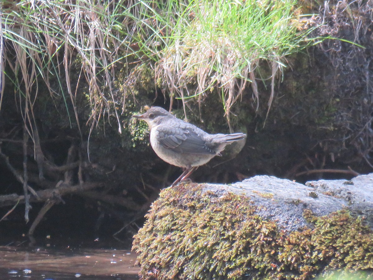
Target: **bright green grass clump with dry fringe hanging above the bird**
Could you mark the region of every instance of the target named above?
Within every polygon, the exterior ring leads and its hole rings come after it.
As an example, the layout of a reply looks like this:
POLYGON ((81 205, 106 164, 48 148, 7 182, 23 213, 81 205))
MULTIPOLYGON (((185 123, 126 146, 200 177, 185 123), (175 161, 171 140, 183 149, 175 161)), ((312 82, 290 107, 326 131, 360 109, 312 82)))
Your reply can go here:
MULTIPOLYGON (((251 83, 258 106, 258 65, 266 60, 271 71, 263 79, 274 79, 284 66, 284 57, 305 47, 305 31, 298 31, 294 0, 170 1, 179 11, 173 32, 162 51, 158 75, 171 94, 183 101, 199 101, 214 87, 221 88, 229 111, 251 83)), ((258 107, 257 107, 258 108, 258 107)))

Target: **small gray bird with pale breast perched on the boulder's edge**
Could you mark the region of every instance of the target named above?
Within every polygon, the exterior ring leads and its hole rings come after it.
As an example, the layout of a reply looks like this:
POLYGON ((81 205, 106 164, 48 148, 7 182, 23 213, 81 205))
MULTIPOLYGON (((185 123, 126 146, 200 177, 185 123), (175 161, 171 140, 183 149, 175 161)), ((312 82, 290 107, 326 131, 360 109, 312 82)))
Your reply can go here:
POLYGON ((161 107, 151 107, 146 113, 133 117, 149 125, 150 144, 161 159, 185 168, 172 186, 188 178, 200 165, 220 155, 226 145, 246 137, 244 133, 209 134, 161 107))

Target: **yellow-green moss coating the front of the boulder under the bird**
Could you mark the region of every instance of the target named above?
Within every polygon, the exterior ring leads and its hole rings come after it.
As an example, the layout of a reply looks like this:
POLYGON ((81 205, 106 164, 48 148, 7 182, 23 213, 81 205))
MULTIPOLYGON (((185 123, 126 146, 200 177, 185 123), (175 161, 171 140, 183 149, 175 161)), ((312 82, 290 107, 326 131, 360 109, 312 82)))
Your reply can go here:
POLYGON ((372 270, 372 230, 347 211, 286 233, 245 196, 180 184, 160 193, 134 237, 142 279, 308 279, 372 270))

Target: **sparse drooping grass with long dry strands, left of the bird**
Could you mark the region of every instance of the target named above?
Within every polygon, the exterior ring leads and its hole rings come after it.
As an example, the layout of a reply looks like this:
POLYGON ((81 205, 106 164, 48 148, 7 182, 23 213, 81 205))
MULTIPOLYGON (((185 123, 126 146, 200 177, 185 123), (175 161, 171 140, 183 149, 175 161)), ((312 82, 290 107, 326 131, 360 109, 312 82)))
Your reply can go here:
POLYGON ((123 20, 131 14, 126 3, 20 0, 0 5, 1 90, 7 75, 22 104, 25 123, 32 127, 33 107, 46 86, 52 98, 63 97, 69 118, 73 105, 79 125, 76 100, 86 87, 91 119, 98 121, 112 110, 120 131, 112 81, 116 64, 128 55, 123 50, 129 47, 125 38, 130 30, 122 31, 123 20))

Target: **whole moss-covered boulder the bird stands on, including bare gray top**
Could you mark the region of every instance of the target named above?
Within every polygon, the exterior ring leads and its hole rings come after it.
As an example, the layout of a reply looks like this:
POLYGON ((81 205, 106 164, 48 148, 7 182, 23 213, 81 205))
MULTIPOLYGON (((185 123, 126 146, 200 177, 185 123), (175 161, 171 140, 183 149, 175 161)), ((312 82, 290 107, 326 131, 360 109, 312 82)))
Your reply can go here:
POLYGON ((164 189, 134 238, 141 279, 310 279, 331 270, 368 277, 372 224, 358 214, 360 198, 348 199, 373 192, 367 176, 340 182, 350 191, 339 193, 326 181, 269 176, 164 189))

